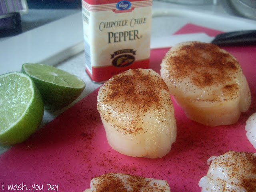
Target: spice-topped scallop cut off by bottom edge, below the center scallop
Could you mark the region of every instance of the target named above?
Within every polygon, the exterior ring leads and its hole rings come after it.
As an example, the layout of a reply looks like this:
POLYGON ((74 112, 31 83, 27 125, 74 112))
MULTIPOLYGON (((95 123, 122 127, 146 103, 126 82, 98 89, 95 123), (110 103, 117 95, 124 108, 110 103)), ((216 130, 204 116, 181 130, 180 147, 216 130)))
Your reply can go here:
POLYGON ((124 173, 106 173, 92 178, 84 192, 170 192, 165 180, 124 173))

